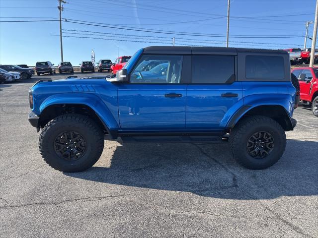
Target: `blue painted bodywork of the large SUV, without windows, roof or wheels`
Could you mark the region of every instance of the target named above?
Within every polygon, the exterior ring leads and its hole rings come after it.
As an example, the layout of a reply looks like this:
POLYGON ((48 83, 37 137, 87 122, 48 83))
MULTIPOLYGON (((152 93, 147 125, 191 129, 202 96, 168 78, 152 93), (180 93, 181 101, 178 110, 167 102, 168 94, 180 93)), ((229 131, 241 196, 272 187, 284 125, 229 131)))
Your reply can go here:
MULTIPOLYGON (((125 65, 128 73, 144 49, 125 65)), ((290 118, 296 90, 291 82, 235 81, 232 84, 130 84, 101 78, 40 82, 32 88, 32 112, 41 117, 49 106, 90 107, 108 129, 129 131, 225 131, 249 110, 262 105, 282 107, 290 118), (180 97, 165 97, 165 94, 180 97), (223 97, 232 93, 234 97, 223 97), (244 107, 249 106, 249 107, 244 107), (240 115, 237 115, 239 110, 240 115)), ((270 113, 270 112, 269 112, 270 113)))

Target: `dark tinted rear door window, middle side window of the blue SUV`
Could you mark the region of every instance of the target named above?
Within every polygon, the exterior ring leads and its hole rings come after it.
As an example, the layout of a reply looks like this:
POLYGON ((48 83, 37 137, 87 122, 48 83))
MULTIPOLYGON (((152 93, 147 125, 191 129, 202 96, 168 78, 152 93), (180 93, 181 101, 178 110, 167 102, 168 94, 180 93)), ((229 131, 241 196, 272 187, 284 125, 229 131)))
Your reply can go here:
POLYGON ((235 81, 234 56, 192 56, 192 83, 232 83, 235 81))

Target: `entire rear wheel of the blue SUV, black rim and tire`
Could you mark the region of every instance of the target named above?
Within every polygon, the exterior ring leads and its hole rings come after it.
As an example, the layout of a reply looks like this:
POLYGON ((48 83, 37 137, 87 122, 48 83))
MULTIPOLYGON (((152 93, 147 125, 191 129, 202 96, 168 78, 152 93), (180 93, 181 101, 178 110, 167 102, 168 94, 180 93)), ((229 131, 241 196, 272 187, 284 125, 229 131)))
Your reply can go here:
POLYGON ((275 120, 263 116, 241 119, 231 130, 232 155, 247 169, 262 170, 274 165, 283 155, 286 134, 275 120))

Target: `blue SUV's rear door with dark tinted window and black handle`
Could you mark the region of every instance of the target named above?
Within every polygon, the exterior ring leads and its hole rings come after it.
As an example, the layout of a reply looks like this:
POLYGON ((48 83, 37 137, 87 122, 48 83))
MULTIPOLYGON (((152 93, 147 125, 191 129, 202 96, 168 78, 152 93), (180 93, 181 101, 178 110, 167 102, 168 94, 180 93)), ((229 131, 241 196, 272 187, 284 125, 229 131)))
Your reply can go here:
POLYGON ((242 86, 235 80, 236 56, 193 55, 191 84, 187 87, 187 129, 223 129, 221 120, 241 100, 242 86))

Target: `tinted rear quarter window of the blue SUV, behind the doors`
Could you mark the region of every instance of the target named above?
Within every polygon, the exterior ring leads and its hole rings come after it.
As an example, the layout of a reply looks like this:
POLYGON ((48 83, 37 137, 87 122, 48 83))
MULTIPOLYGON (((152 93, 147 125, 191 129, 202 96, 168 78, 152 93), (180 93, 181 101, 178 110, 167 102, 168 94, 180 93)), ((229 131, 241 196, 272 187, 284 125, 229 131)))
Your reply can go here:
POLYGON ((284 79, 284 58, 281 56, 246 56, 246 78, 284 79))

